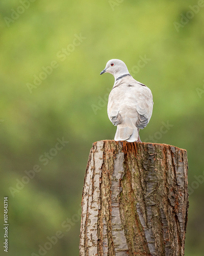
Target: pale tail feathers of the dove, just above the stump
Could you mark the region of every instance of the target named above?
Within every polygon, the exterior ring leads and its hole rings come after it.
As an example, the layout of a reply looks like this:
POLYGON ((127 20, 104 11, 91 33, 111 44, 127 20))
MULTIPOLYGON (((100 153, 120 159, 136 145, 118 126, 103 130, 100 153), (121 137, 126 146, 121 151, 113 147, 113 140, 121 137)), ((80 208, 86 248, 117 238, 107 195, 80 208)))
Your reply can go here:
POLYGON ((114 140, 126 140, 128 142, 140 141, 139 129, 131 129, 130 127, 119 127, 118 125, 114 140))

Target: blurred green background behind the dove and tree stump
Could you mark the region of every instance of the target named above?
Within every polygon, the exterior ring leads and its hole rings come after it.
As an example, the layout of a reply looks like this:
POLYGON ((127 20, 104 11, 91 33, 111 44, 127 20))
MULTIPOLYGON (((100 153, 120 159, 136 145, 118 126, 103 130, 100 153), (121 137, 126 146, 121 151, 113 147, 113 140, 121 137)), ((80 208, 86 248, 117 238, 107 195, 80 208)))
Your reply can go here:
MULTIPOLYGON (((188 151, 185 255, 203 255, 204 1, 10 0, 0 12, 6 255, 79 255, 89 151, 116 130, 107 116, 114 78, 99 75, 111 58, 122 59, 154 96, 141 140, 188 151)), ((3 242, 1 231, 1 255, 3 242)))

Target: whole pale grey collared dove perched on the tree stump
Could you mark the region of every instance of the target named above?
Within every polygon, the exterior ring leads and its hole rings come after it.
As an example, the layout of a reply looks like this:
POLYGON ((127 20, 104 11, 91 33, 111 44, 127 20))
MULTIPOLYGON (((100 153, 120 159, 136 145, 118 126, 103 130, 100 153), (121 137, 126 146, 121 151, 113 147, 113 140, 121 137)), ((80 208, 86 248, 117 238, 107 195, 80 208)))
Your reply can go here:
POLYGON ((141 142, 139 130, 147 126, 154 104, 150 89, 135 80, 120 59, 109 60, 100 75, 105 72, 115 78, 108 100, 108 117, 117 125, 114 140, 141 142))

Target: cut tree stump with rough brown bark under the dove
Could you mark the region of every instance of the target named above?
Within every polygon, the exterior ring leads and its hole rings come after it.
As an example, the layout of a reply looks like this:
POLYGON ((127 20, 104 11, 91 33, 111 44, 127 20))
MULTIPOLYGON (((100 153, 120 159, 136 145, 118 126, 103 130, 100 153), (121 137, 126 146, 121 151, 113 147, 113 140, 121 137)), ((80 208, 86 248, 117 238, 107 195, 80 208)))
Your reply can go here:
POLYGON ((93 143, 82 199, 80 256, 184 255, 187 152, 114 140, 93 143))

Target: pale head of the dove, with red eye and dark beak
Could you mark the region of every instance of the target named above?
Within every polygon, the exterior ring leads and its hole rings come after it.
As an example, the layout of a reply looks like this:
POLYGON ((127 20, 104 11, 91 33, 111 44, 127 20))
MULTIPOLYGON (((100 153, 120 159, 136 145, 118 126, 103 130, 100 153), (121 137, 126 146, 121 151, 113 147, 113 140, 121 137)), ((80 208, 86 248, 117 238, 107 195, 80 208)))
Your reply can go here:
POLYGON ((106 68, 100 72, 100 75, 104 73, 112 74, 115 79, 121 75, 128 74, 129 71, 125 63, 120 59, 111 59, 107 62, 106 68))

